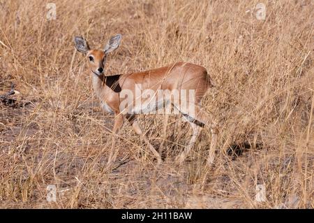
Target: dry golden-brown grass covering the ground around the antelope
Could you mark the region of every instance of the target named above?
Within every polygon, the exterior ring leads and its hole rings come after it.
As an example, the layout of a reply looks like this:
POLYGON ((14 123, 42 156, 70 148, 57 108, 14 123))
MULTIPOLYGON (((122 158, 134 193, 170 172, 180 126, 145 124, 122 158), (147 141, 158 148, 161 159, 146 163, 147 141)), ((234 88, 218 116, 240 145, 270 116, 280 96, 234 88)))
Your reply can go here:
MULTIPOLYGON (((10 82, 21 92, 0 103, 1 208, 314 207, 313 1, 262 1, 266 20, 255 17, 259 1, 54 2, 57 20, 46 19, 45 1, 0 0, 0 94, 10 82), (214 168, 204 168, 207 129, 185 166, 174 165, 190 130, 171 117, 160 168, 125 125, 126 164, 105 171, 112 117, 73 36, 102 48, 117 33, 108 75, 178 61, 208 69, 216 87, 204 106, 223 123, 214 168), (239 156, 224 152, 237 144, 239 156), (255 201, 256 185, 266 202, 255 201)), ((158 148, 163 117, 140 122, 158 148)))

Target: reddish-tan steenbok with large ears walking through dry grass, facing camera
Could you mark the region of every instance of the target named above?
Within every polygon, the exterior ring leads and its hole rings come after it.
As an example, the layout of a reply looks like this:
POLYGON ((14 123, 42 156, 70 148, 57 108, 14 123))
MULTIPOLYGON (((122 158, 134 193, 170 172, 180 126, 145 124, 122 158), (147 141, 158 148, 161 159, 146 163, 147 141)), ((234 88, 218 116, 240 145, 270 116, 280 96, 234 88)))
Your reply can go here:
MULTIPOLYGON (((100 99, 103 110, 114 114, 112 137, 119 133, 125 117, 136 134, 142 136, 160 164, 160 154, 144 136, 135 117, 139 113, 156 113, 156 110, 170 106, 173 110, 177 110, 177 113, 180 113, 193 128, 190 142, 176 161, 181 163, 186 159, 187 154, 195 144, 200 129, 208 124, 211 129, 211 145, 207 163, 212 164, 218 134, 217 123, 211 120, 209 115, 200 108, 204 94, 212 86, 207 70, 195 64, 178 62, 144 72, 107 76, 105 75, 106 57, 110 52, 116 50, 120 43, 121 34, 117 34, 110 38, 104 49, 92 50, 84 38, 75 37, 75 48, 87 57, 93 89, 100 99), (139 90, 142 92, 140 95, 138 95, 139 90), (158 99, 157 95, 159 96, 158 99), (145 100, 143 104, 143 98, 149 99, 145 100)), ((168 111, 170 110, 168 109, 168 111)), ((112 138, 108 165, 111 165, 117 156, 114 149, 114 138, 112 138)))

